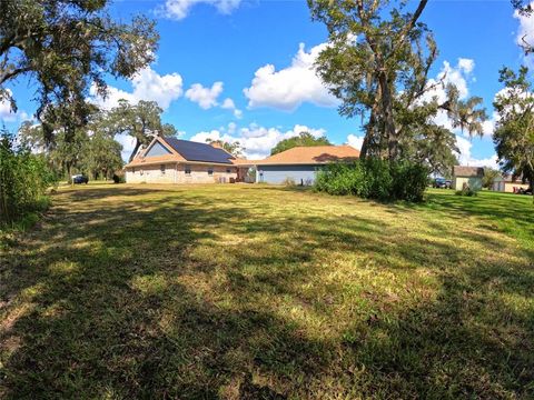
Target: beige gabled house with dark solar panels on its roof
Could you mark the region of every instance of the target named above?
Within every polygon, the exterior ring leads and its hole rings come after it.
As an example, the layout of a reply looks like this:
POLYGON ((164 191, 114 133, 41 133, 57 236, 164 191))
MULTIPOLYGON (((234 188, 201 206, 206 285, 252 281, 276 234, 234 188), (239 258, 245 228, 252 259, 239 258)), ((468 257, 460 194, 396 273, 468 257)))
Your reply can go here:
POLYGON ((156 137, 125 169, 128 183, 224 183, 244 180, 249 167, 216 144, 156 137))

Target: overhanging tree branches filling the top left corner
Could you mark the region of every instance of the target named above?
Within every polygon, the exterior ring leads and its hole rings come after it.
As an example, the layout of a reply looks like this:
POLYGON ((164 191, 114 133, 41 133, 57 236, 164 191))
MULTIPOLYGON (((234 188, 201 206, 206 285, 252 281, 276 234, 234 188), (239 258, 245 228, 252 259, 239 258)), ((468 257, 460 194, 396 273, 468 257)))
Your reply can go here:
MULTIPOLYGON (((58 111, 69 104, 71 123, 83 123, 88 111, 86 96, 91 86, 103 96, 107 74, 131 78, 154 61, 159 40, 155 22, 145 17, 134 18, 130 24, 116 22, 107 11, 108 3, 109 0, 2 0, 0 100, 11 101, 16 109, 6 86, 29 77, 37 83, 39 119, 51 104, 58 111)), ((52 129, 46 129, 46 133, 51 132, 52 129)))

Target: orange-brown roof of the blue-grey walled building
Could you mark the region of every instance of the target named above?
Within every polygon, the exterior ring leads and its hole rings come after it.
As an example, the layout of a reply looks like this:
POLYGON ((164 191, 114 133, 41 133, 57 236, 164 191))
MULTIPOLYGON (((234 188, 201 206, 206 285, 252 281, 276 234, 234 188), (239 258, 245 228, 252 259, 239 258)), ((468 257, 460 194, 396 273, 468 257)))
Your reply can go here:
POLYGON ((333 161, 353 161, 359 151, 352 146, 295 147, 257 161, 258 166, 324 164, 333 161))

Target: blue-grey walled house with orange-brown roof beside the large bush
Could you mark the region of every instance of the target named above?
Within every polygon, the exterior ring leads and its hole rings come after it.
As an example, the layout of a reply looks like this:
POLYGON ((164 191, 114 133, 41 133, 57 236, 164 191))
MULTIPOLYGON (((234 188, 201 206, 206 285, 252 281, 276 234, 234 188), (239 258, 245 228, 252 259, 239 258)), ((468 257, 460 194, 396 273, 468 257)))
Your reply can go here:
POLYGON ((256 161, 256 182, 313 184, 322 167, 358 158, 359 151, 350 146, 295 147, 256 161))

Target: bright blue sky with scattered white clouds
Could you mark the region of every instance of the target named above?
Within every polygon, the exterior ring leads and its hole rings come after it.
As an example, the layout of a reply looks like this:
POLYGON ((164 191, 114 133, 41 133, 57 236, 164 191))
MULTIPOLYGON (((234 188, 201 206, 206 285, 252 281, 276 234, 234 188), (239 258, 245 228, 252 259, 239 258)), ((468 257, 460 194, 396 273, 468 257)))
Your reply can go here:
MULTIPOLYGON (((108 80, 108 97, 92 99, 101 107, 121 98, 157 101, 164 122, 181 138, 239 141, 249 159, 268 156, 278 141, 301 131, 324 134, 335 144, 362 144, 362 119, 340 117, 338 101, 315 74, 327 32, 312 21, 306 1, 117 0, 110 11, 123 21, 135 14, 154 18, 160 42, 156 61, 134 79, 108 80)), ((508 0, 433 0, 421 20, 439 50, 429 78, 445 76, 463 98, 482 97, 491 117, 483 138, 455 131, 459 162, 496 167, 492 102, 502 90, 498 70, 531 62, 517 42, 534 36, 534 19, 520 18, 508 0)), ((0 102, 0 122, 17 129, 37 109, 34 83, 22 79, 10 89, 19 111, 0 102)), ((443 90, 433 94, 444 96, 443 90)), ((444 116, 437 120, 449 127, 444 116)), ((132 140, 117 139, 127 159, 132 140)))

